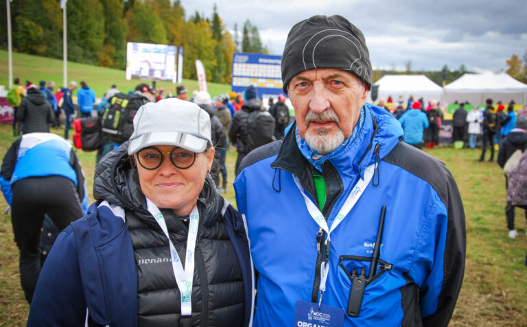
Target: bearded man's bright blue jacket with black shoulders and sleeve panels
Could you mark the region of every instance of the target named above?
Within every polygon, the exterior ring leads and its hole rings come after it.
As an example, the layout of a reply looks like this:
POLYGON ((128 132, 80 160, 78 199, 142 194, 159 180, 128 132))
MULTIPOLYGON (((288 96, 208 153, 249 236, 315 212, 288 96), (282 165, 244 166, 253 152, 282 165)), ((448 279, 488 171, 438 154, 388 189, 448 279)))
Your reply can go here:
MULTIPOLYGON (((322 166, 326 189, 335 195, 323 208, 331 226, 366 167, 378 164, 371 183, 331 233, 322 304, 347 309, 351 280, 340 258, 355 256, 342 258, 349 273, 369 271, 386 206, 379 256, 385 264, 377 268, 382 274, 366 286, 359 317, 345 315, 344 326, 419 326, 421 319, 425 326, 447 326, 465 267, 465 217, 456 183, 443 162, 399 142, 401 126, 386 110, 364 108, 358 136, 322 166)), ((234 182, 259 272, 253 326, 292 326, 296 301, 318 299, 317 262, 324 246, 319 252, 319 227, 293 175, 318 204, 312 175, 320 172, 298 149, 294 130, 248 154, 234 182)))

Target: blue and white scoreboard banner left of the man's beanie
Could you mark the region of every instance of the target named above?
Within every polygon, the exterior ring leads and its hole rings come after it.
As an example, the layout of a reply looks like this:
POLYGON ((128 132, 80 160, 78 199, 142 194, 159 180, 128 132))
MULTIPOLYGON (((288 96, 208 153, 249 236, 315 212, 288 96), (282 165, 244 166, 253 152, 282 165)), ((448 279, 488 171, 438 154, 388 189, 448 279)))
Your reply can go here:
POLYGON ((231 88, 243 92, 247 86, 258 89, 259 97, 283 94, 280 64, 282 56, 261 53, 233 53, 231 88))

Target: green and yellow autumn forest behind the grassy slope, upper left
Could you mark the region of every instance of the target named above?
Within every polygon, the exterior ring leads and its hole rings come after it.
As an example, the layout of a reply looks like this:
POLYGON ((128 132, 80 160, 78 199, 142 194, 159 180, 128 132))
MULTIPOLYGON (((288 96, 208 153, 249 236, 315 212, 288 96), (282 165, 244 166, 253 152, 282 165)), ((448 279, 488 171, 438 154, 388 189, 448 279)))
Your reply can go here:
MULTIPOLYGON (((10 8, 14 51, 62 58, 59 0, 14 0, 10 8)), ((196 12, 189 19, 179 0, 68 0, 66 8, 68 60, 74 62, 125 69, 127 42, 176 45, 183 47, 184 78, 196 79, 199 59, 207 80, 230 84, 235 51, 267 53, 255 25, 246 20, 232 35, 215 4, 211 17, 196 12)), ((0 47, 7 48, 7 22, 0 24, 0 47)))

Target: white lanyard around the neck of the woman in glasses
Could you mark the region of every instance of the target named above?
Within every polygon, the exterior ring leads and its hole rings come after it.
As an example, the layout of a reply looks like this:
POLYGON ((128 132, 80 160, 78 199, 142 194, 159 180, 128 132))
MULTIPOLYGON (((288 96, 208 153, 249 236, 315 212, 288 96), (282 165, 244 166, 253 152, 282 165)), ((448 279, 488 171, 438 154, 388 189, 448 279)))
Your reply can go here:
POLYGON ((198 213, 198 206, 194 206, 190 213, 190 223, 189 223, 189 234, 187 236, 187 254, 185 256, 185 269, 181 265, 178 252, 176 252, 176 247, 168 236, 167 223, 165 222, 165 217, 159 208, 146 198, 146 206, 148 211, 154 216, 159 227, 165 233, 165 236, 168 239, 170 245, 170 258, 172 258, 172 270, 174 271, 174 277, 178 284, 179 293, 181 295, 181 315, 192 315, 192 282, 194 279, 194 250, 196 249, 196 237, 198 236, 198 223, 200 221, 200 215, 198 213))

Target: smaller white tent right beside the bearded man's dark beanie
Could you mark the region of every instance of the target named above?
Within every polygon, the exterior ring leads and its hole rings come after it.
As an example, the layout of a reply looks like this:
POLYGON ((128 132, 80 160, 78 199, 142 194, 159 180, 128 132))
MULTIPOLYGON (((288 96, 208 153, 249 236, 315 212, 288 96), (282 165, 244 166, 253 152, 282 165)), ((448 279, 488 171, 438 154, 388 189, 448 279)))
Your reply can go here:
MULTIPOLYGON (((408 98, 412 96, 414 100, 422 97, 424 103, 428 104, 431 99, 441 101, 443 97, 443 88, 425 75, 384 75, 373 85, 379 86, 376 101, 379 101, 380 97, 388 99, 391 96, 393 101, 397 102, 399 97, 402 97, 406 104, 408 98)), ((371 101, 371 93, 368 101, 371 101)))

